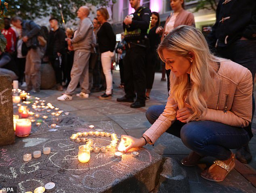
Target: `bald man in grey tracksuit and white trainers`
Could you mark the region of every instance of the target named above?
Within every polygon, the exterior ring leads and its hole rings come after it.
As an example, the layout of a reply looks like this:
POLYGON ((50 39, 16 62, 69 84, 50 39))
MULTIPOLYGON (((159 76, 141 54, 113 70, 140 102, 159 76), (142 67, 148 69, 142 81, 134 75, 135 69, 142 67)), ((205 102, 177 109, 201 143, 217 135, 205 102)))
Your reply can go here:
POLYGON ((72 100, 71 95, 76 89, 78 82, 81 86, 81 92, 76 95, 78 97, 88 98, 90 94, 89 58, 92 46, 93 25, 90 19, 88 19, 88 15, 90 14, 88 7, 80 7, 77 14, 80 19, 78 30, 76 31, 73 39, 66 39, 68 45, 73 46, 75 51, 73 67, 71 69, 71 81, 65 91, 65 94, 57 98, 59 101, 72 100))

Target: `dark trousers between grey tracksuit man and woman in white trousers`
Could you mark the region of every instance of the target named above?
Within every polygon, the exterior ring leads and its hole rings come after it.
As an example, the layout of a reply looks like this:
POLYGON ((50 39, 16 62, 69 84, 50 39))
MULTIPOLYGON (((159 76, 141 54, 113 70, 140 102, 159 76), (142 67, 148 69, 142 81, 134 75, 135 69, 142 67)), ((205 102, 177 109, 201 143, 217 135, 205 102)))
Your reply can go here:
POLYGON ((89 60, 89 89, 100 86, 99 54, 91 53, 89 60))

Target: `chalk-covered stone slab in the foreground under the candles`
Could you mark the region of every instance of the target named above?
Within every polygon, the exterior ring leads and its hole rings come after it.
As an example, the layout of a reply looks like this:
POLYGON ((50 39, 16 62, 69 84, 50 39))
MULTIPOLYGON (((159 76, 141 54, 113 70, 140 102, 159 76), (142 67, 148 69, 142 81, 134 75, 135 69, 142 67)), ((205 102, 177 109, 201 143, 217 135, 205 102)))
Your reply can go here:
MULTIPOLYGON (((0 150, 10 159, 1 157, 1 185, 17 186, 18 191, 33 191, 36 187, 54 182, 55 192, 149 192, 155 187, 162 157, 147 149, 134 149, 139 157, 125 153, 122 159, 115 158, 113 151, 91 153, 88 163, 78 161, 80 144, 69 140, 74 130, 42 134, 38 137, 20 139, 14 145, 0 150), (67 134, 69 134, 67 136, 67 134), (51 153, 23 162, 25 153, 50 147, 51 153), (17 151, 19 149, 19 151, 17 151), (150 178, 148 177, 150 176, 150 178)), ((89 137, 88 137, 89 138, 89 137)), ((106 146, 107 137, 92 137, 95 145, 106 146)))

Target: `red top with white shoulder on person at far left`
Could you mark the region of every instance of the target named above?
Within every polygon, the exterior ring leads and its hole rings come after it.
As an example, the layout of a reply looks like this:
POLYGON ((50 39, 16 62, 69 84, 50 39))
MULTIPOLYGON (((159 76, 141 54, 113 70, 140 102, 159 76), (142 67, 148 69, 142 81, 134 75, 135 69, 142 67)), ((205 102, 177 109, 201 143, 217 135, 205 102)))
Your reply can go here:
POLYGON ((2 34, 7 40, 5 51, 14 52, 17 39, 15 31, 10 27, 9 29, 3 29, 2 34))

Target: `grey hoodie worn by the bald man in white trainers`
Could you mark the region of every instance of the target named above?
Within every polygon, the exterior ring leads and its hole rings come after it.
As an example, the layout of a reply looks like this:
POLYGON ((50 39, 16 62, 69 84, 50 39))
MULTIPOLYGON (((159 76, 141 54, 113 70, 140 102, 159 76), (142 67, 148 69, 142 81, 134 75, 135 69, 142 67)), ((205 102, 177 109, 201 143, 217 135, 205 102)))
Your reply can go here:
POLYGON ((80 21, 76 36, 71 40, 74 50, 90 52, 92 47, 93 25, 89 18, 80 21))

